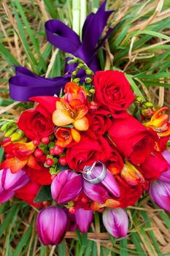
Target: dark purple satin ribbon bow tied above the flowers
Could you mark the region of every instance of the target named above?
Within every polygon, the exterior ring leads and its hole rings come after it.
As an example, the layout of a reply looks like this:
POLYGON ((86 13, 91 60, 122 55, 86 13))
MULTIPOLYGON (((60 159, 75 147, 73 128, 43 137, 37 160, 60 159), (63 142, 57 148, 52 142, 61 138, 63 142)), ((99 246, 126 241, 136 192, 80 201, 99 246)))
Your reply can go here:
MULTIPOLYGON (((101 4, 96 14, 90 13, 86 18, 82 28, 82 42, 80 37, 60 20, 48 20, 45 23, 47 40, 56 48, 66 53, 72 53, 85 61, 93 72, 99 69, 96 52, 113 31, 113 29, 109 29, 106 36, 98 43, 109 15, 113 12, 105 11, 106 3, 107 0, 101 4)), ((61 89, 69 82, 70 74, 74 69, 74 64, 66 64, 66 72, 69 72, 67 75, 57 78, 42 78, 25 67, 15 67, 16 75, 9 79, 10 97, 19 101, 27 101, 34 96, 59 95, 61 89)))

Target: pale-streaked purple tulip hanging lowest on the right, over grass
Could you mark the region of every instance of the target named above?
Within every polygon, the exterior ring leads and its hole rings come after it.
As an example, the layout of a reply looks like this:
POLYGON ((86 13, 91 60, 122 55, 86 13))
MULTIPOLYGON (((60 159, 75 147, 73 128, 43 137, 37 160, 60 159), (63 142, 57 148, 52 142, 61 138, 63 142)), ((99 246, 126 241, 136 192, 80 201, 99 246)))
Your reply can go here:
POLYGON ((116 238, 125 237, 128 233, 128 215, 122 208, 106 208, 103 223, 107 231, 116 238))

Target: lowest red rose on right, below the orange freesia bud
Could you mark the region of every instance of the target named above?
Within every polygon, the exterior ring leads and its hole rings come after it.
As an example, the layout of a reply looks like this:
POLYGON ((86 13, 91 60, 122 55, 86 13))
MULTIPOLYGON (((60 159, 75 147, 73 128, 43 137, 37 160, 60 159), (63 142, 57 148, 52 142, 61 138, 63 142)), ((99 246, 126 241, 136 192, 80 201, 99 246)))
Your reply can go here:
POLYGON ((140 184, 131 186, 123 181, 120 176, 115 176, 115 178, 120 187, 120 198, 116 199, 120 202, 119 207, 126 208, 128 206, 133 206, 142 195, 142 186, 140 184))

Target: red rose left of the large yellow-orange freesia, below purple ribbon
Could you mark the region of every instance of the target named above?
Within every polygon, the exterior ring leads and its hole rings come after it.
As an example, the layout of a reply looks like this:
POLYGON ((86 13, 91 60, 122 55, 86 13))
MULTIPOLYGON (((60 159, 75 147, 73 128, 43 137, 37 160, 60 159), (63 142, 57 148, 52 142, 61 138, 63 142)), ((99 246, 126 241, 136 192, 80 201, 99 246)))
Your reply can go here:
POLYGON ((24 111, 19 120, 18 127, 31 140, 41 139, 51 135, 55 125, 52 121, 57 97, 32 97, 31 100, 39 102, 33 110, 24 111))

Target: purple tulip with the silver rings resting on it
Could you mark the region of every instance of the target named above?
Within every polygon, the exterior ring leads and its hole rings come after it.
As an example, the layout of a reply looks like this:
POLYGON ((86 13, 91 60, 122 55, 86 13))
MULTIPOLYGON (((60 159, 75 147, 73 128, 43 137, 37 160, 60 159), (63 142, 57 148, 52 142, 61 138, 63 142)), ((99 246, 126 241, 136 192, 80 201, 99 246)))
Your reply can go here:
MULTIPOLYGON (((98 177, 101 174, 101 168, 101 166, 94 167, 90 175, 91 178, 98 177)), ((118 184, 109 170, 107 170, 107 175, 103 181, 98 184, 90 184, 88 181, 83 180, 83 192, 85 192, 90 199, 98 203, 104 203, 105 200, 111 198, 110 195, 120 197, 118 184)))

